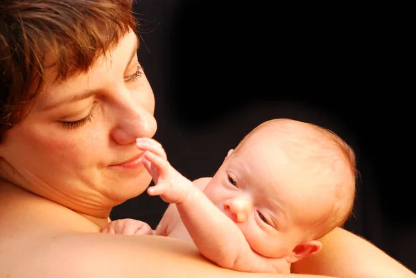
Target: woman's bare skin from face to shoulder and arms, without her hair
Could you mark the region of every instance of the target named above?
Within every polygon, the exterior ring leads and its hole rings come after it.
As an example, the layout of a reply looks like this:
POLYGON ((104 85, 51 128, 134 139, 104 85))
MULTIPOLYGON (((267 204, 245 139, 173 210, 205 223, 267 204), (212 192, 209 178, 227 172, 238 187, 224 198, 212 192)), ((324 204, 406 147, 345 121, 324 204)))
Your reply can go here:
MULTIPOLYGON (((151 178, 144 167, 120 166, 140 155, 135 139, 153 137, 156 130, 146 76, 132 78, 139 69, 136 49, 137 38, 126 35, 112 50, 112 63, 98 60, 87 75, 64 84, 46 82, 35 110, 8 130, 0 145, 0 277, 276 277, 220 268, 173 238, 100 233, 112 207, 143 193, 151 178), (71 96, 78 101, 67 100, 71 96), (91 113, 78 128, 64 128, 91 113)), ((53 76, 45 74, 46 81, 53 76)), ((295 263, 295 272, 415 277, 347 232, 324 241, 327 250, 295 263)))

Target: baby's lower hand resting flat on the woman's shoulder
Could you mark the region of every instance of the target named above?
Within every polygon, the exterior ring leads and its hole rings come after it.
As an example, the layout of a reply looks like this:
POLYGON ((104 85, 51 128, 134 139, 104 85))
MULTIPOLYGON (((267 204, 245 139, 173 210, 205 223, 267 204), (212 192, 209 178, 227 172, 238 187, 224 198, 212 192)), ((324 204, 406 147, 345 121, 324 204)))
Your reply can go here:
POLYGON ((101 232, 107 234, 128 234, 132 236, 153 234, 153 230, 148 223, 130 218, 110 221, 101 232))

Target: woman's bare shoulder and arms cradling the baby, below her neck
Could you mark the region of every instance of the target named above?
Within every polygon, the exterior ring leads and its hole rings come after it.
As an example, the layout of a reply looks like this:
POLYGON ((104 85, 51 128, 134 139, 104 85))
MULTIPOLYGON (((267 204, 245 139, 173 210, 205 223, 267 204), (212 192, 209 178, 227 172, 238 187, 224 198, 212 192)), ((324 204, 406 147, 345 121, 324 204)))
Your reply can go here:
MULTIPOLYGON (((0 277, 52 278, 56 273, 62 278, 186 277, 196 272, 198 277, 276 277, 219 268, 190 243, 173 238, 100 234, 97 223, 107 223, 106 219, 92 221, 4 181, 0 182, 0 203, 0 277)), ((416 277, 374 245, 343 229, 331 232, 322 242, 326 247, 320 254, 292 268, 318 276, 280 277, 416 277)))

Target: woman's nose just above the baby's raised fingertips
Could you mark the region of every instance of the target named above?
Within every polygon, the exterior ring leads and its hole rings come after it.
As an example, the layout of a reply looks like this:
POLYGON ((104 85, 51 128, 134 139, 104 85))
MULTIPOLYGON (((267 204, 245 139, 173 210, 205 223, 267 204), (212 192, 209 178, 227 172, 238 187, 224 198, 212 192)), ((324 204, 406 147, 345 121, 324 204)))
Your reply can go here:
POLYGON ((128 145, 137 138, 155 135, 156 119, 153 116, 154 99, 141 102, 130 98, 120 107, 116 115, 116 126, 112 130, 112 137, 118 144, 128 145))

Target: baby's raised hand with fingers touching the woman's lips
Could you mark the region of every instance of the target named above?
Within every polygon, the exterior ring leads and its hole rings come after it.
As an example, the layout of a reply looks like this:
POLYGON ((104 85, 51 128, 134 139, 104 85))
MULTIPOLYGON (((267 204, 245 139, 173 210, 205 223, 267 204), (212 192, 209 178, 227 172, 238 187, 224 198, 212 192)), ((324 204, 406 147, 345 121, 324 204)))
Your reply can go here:
POLYGON ((136 144, 137 148, 145 150, 144 166, 155 182, 155 186, 148 188, 150 196, 159 195, 165 202, 177 204, 198 193, 199 189, 191 180, 171 166, 159 142, 155 139, 139 138, 136 144))

